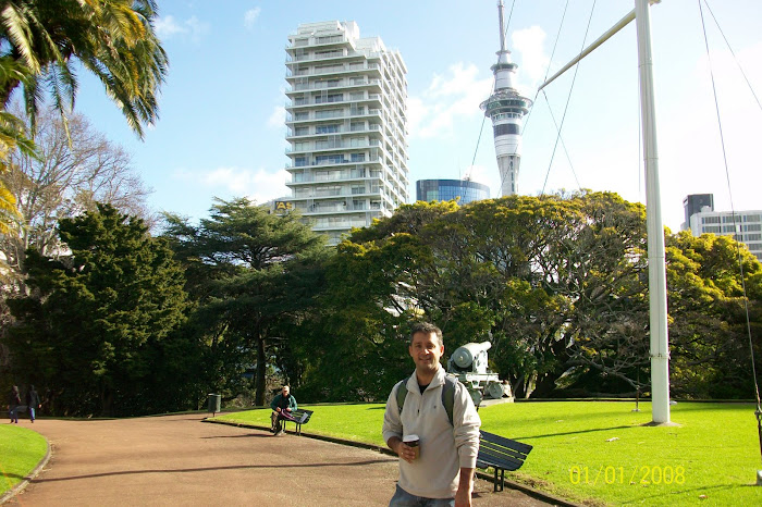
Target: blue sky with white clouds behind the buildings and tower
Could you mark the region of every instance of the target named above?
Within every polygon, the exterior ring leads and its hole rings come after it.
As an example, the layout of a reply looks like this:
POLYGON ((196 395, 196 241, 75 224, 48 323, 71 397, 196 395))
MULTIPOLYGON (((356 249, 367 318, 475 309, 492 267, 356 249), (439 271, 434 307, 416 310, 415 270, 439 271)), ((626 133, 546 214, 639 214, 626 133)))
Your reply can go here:
MULTIPOLYGON (((762 99, 762 2, 708 1, 762 99)), ((552 74, 580 51, 589 20, 588 44, 634 8, 631 0, 569 0, 551 61, 566 0, 505 3, 506 18, 513 5, 508 49, 530 98, 549 64, 552 74)), ((491 91, 490 65, 499 49, 495 0, 159 0, 159 9, 157 29, 170 72, 160 121, 145 139, 135 137, 100 85, 84 74, 76 102, 94 126, 132 153, 153 189, 153 209, 198 219, 208 215, 213 197, 262 202, 288 194, 284 48, 298 24, 330 20, 355 21, 362 37, 380 36, 402 52, 408 69, 410 199, 417 180, 466 172, 496 197, 489 121, 479 141, 479 103, 491 91)), ((651 18, 665 225, 679 228, 687 194, 713 193, 715 208, 729 210, 732 191, 736 210, 762 209, 762 111, 705 4, 730 190, 699 0, 664 0, 652 7, 651 18)), ((525 131, 519 191, 582 187, 644 201, 635 23, 585 59, 576 79, 567 72, 545 92, 548 100, 537 97, 525 131), (556 122, 564 118, 566 148, 558 143, 554 157, 551 110, 556 122)))

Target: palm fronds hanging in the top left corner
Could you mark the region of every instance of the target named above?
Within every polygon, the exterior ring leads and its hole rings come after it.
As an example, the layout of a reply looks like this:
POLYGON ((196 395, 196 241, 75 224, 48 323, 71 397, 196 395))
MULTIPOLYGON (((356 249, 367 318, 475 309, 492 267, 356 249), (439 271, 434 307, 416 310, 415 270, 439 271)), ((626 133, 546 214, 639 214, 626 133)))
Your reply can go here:
POLYGON ((143 137, 158 119, 158 92, 169 61, 153 28, 155 0, 0 0, 0 61, 26 79, 0 83, 5 109, 21 85, 33 123, 48 91, 65 115, 77 89, 75 62, 95 74, 143 137))

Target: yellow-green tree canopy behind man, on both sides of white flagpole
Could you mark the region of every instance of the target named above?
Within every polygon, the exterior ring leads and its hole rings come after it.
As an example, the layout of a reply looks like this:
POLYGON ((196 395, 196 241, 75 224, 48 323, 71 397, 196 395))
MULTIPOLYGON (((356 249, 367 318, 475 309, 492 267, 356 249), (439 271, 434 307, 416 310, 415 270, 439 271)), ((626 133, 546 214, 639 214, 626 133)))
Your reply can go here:
MULTIPOLYGON (((701 249, 677 235, 668 250, 677 395, 716 394, 709 386, 721 371, 737 372, 733 393, 741 378, 751 385, 737 256, 728 250, 736 243, 712 238, 695 238, 714 245, 701 249), (703 363, 715 373, 699 385, 692 375, 703 363)), ((759 262, 746 251, 743 259, 755 297, 759 262)), ((306 378, 316 393, 384 396, 408 366, 407 324, 420 318, 443 329, 450 351, 490 341, 493 370, 519 396, 649 391, 644 209, 615 194, 405 206, 342 243, 328 280, 320 334, 339 345, 315 354, 314 338, 306 378), (341 374, 353 382, 337 383, 341 374)))

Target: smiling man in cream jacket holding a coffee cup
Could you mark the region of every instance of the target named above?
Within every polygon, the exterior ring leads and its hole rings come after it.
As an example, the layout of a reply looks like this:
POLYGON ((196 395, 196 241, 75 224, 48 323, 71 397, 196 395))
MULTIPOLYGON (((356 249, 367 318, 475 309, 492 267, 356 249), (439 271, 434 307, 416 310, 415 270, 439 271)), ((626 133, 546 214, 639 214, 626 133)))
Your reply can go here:
POLYGON ((392 389, 383 417, 383 440, 400 456, 400 481, 390 506, 470 506, 481 420, 466 387, 455 382, 452 422, 444 407, 442 331, 414 325, 409 345, 415 373, 392 389), (406 388, 402 413, 397 388, 406 388), (416 434, 420 455, 403 443, 416 434))

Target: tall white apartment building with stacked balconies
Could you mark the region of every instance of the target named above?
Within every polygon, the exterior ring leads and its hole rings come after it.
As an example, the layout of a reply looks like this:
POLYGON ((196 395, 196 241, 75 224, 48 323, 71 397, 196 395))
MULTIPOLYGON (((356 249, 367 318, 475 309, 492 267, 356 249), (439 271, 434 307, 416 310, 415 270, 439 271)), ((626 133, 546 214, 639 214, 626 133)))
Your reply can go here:
POLYGON ((408 200, 407 69, 355 22, 299 25, 286 53, 286 186, 335 245, 408 200))

